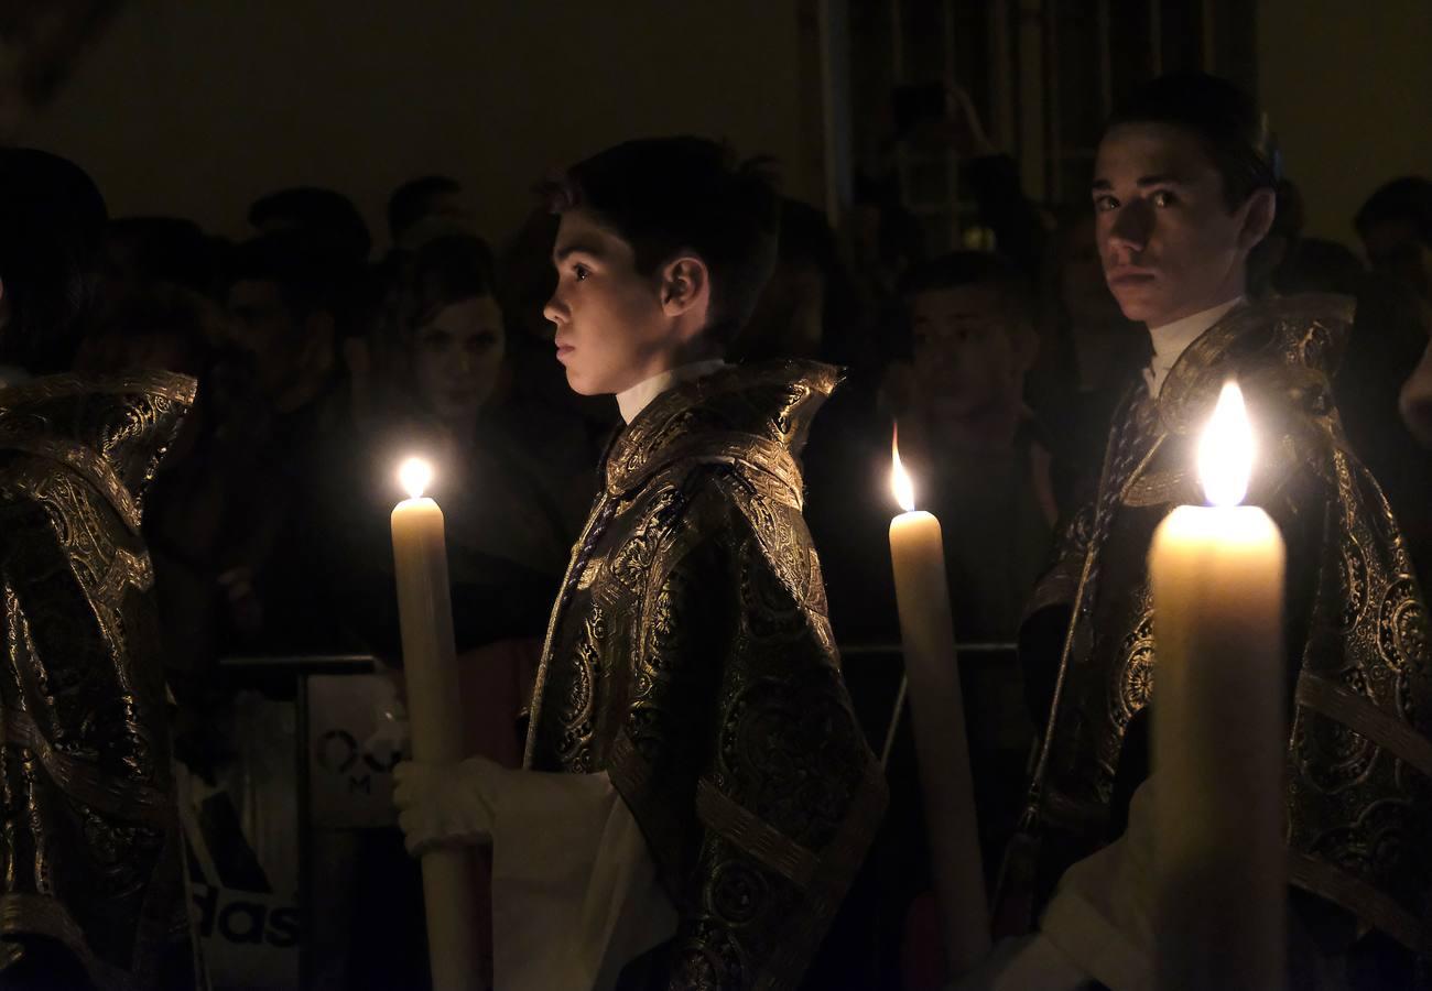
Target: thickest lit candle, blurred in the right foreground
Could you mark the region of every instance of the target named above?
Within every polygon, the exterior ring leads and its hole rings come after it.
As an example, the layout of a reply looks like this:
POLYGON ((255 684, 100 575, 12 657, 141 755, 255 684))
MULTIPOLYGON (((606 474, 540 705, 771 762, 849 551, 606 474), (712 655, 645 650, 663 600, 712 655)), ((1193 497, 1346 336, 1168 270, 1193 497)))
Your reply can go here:
POLYGON ((1211 506, 1176 508, 1148 554, 1160 988, 1285 982, 1285 548, 1239 504, 1252 468, 1230 382, 1199 447, 1211 506))

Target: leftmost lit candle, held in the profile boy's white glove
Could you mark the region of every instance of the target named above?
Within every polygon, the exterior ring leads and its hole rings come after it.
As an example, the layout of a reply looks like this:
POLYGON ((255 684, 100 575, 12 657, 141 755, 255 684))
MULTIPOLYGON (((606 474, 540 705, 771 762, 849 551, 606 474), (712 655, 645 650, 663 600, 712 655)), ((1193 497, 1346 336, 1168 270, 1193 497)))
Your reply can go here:
MULTIPOLYGON (((463 753, 442 510, 422 497, 432 477, 427 463, 410 458, 398 475, 411 496, 392 510, 392 560, 412 758, 422 763, 455 763, 467 755, 463 753)), ((471 851, 424 854, 422 899, 434 991, 481 987, 471 851)))

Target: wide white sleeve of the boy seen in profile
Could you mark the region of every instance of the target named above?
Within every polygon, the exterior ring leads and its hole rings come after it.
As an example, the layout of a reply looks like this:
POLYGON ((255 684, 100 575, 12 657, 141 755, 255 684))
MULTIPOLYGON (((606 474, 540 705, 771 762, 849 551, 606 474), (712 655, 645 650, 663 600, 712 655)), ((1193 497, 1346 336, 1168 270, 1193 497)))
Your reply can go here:
POLYGON ((493 978, 604 991, 676 932, 646 838, 606 773, 505 772, 493 816, 493 978))

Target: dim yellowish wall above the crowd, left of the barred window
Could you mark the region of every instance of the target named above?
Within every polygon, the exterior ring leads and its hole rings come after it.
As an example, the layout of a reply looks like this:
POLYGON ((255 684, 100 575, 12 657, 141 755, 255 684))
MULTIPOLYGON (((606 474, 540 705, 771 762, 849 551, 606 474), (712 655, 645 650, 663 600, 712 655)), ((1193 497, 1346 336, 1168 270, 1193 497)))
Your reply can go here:
POLYGON ((261 193, 312 183, 352 196, 382 246, 388 192, 444 172, 501 238, 550 168, 677 132, 776 155, 788 190, 818 196, 799 185, 812 149, 796 13, 796 0, 129 0, 19 137, 84 165, 115 215, 231 236, 261 193))

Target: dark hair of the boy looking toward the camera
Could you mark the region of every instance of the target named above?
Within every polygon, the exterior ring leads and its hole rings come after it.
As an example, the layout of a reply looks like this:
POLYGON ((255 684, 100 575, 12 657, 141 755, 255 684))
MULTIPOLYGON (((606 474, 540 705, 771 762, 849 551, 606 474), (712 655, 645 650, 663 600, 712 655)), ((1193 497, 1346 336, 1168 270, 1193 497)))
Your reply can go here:
POLYGON ((1161 123, 1191 132, 1219 175, 1229 211, 1282 178, 1277 140, 1267 115, 1242 87, 1201 72, 1171 73, 1137 87, 1104 127, 1161 123))

